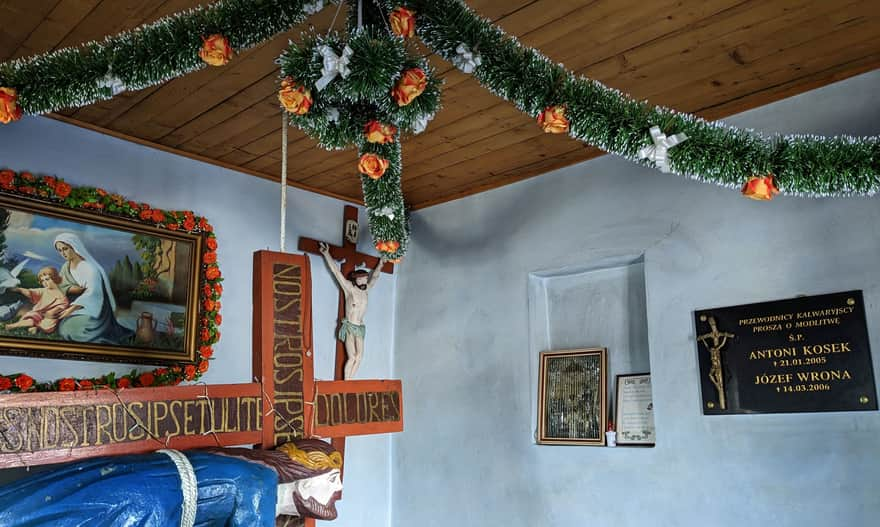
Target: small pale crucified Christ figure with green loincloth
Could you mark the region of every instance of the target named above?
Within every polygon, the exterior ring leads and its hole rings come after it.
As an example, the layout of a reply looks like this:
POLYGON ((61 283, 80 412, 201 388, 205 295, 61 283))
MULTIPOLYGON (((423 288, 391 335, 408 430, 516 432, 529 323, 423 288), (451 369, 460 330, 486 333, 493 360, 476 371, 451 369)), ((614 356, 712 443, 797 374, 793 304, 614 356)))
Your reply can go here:
POLYGON ((336 279, 336 283, 339 284, 339 288, 342 289, 342 293, 345 296, 345 318, 340 321, 338 338, 345 343, 345 354, 347 356, 344 378, 352 379, 364 356, 364 336, 367 331, 364 325, 364 315, 367 312, 367 296, 370 289, 379 280, 379 275, 382 274, 382 266, 388 260, 383 255, 379 259, 379 264, 372 271, 367 272, 362 269, 356 269, 349 273, 348 277, 344 277, 339 271, 336 262, 333 261, 333 257, 330 256, 330 249, 327 244, 319 244, 319 249, 321 256, 324 257, 324 261, 327 263, 327 268, 330 269, 330 273, 336 279))

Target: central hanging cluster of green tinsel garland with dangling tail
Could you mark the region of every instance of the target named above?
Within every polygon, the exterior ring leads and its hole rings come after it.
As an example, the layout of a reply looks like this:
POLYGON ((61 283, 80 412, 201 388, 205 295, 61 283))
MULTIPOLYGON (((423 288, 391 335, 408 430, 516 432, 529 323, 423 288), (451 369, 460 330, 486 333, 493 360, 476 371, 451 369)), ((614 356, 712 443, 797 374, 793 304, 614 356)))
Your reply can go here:
MULTIPOLYGON (((390 259, 406 254, 409 241, 406 206, 401 190, 401 133, 418 132, 419 125, 431 118, 440 107, 440 81, 424 58, 407 56, 404 39, 391 34, 383 19, 384 10, 374 5, 365 10, 364 19, 372 22, 357 27, 356 7, 349 10, 345 36, 310 35, 302 44, 291 44, 281 55, 281 77, 306 87, 313 99, 308 111, 289 114, 290 122, 328 150, 356 147, 358 155, 376 154, 389 166, 378 179, 361 175, 364 203, 370 220, 370 232, 377 250, 390 259), (346 46, 351 49, 346 77, 337 75, 323 90, 316 84, 322 76, 321 49, 329 46, 337 56, 346 46), (427 76, 424 92, 405 106, 397 104, 392 89, 402 74, 418 68, 427 76), (397 132, 386 144, 370 143, 364 127, 371 121, 393 125, 397 132), (383 242, 400 245, 387 250, 383 242)), ((352 172, 356 161, 352 160, 352 172)), ((341 177, 352 177, 341 175, 341 177)))

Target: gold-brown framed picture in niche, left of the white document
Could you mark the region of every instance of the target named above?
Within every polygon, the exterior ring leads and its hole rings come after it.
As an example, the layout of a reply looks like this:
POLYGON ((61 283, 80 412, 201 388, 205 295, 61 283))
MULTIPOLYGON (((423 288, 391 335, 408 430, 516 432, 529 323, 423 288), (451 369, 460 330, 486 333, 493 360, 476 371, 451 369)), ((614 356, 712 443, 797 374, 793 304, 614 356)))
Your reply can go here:
POLYGON ((538 369, 538 443, 604 445, 605 348, 545 351, 538 369))

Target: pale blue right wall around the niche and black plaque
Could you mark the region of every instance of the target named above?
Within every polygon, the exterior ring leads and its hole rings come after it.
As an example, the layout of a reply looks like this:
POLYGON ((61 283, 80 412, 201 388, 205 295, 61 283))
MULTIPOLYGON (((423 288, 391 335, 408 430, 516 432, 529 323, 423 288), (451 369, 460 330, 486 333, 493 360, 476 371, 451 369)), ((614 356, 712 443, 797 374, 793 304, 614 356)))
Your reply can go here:
MULTIPOLYGON (((875 72, 729 122, 877 134, 878 88, 875 72)), ((880 415, 704 417, 692 312, 862 289, 880 377, 878 205, 758 203, 607 156, 419 211, 398 282, 393 524, 877 525, 880 415), (535 445, 530 274, 639 255, 656 448, 535 445)), ((602 344, 571 331, 566 346, 602 344)))

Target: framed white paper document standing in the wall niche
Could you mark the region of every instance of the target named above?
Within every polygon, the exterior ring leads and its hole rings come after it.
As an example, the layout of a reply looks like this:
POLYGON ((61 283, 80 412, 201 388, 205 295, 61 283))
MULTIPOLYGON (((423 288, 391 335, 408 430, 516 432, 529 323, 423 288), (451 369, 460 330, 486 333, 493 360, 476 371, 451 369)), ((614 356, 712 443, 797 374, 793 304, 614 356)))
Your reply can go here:
POLYGON ((651 374, 617 376, 615 401, 617 444, 654 446, 654 401, 651 374))

